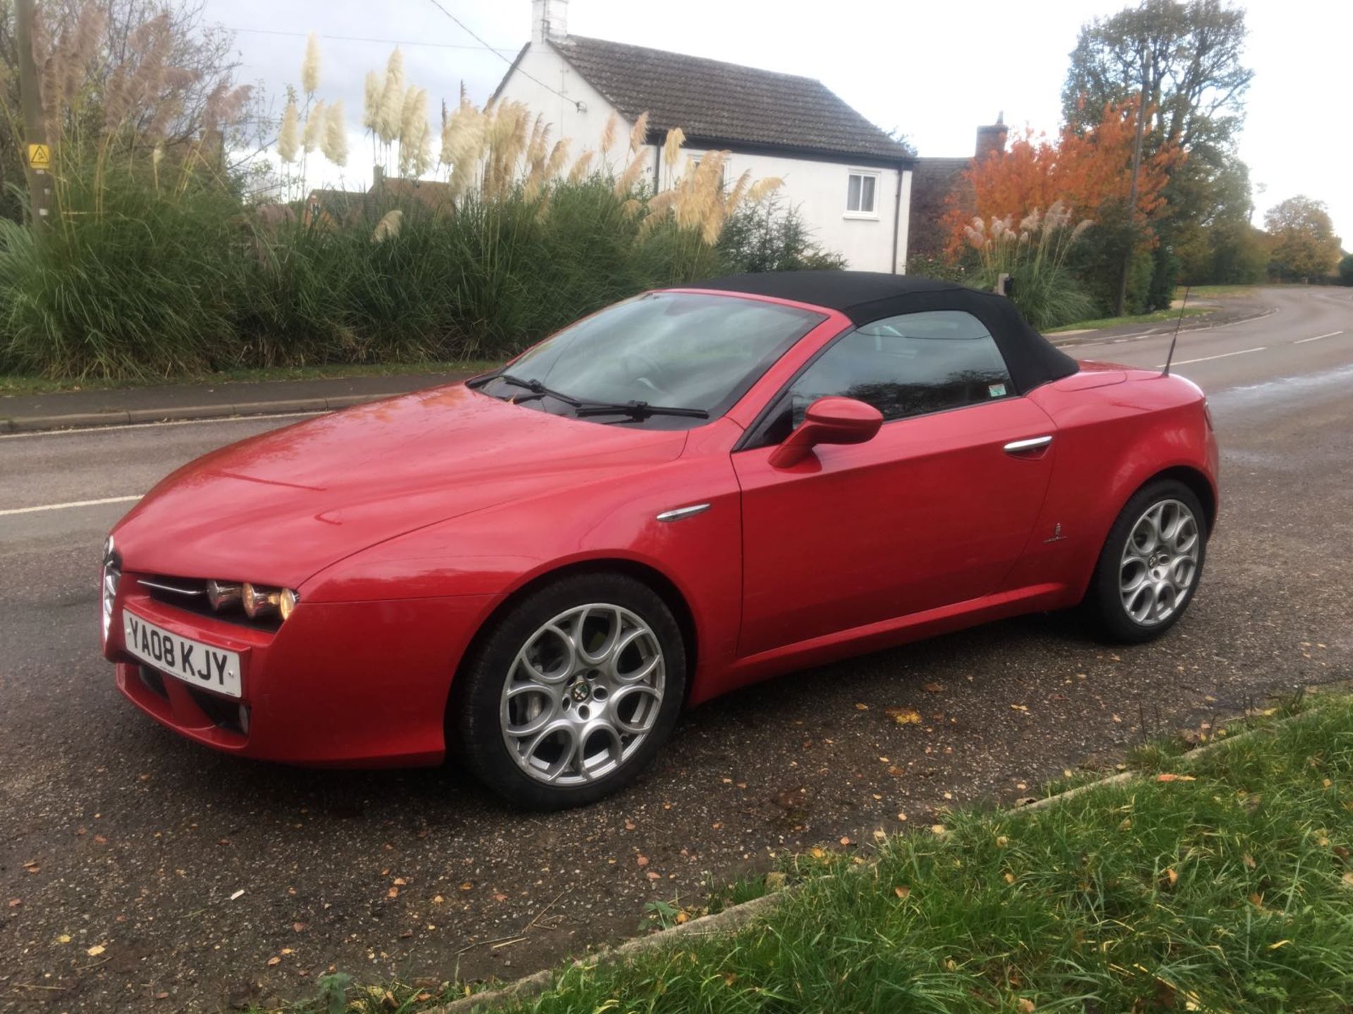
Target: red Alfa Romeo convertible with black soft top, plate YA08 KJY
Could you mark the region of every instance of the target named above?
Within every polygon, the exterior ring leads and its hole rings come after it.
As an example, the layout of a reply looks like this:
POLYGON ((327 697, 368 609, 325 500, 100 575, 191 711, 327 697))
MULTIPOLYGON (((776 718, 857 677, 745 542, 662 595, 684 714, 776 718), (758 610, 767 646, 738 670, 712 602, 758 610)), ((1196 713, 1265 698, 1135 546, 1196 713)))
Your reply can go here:
POLYGON ((114 529, 103 652, 157 721, 560 807, 755 680, 1082 604, 1188 607, 1216 441, 1174 376, 1077 364, 928 279, 718 279, 502 369, 222 448, 114 529))

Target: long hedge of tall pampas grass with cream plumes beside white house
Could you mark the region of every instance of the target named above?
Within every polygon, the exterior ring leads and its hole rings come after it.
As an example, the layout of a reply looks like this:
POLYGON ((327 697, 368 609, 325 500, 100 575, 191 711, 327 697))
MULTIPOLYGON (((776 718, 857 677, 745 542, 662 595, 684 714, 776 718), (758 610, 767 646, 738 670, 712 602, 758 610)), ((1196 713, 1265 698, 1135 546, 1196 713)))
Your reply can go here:
POLYGON ((72 145, 58 227, 0 226, 0 365, 152 380, 505 356, 645 288, 732 265, 840 266, 797 214, 759 204, 777 180, 725 188, 723 153, 678 173, 678 138, 675 185, 652 195, 636 184, 639 142, 617 177, 561 174, 567 153, 533 141, 529 119, 515 104, 461 104, 442 145, 459 180, 444 207, 391 188, 341 220, 276 226, 196 145, 173 180, 170 160, 134 139, 72 145))

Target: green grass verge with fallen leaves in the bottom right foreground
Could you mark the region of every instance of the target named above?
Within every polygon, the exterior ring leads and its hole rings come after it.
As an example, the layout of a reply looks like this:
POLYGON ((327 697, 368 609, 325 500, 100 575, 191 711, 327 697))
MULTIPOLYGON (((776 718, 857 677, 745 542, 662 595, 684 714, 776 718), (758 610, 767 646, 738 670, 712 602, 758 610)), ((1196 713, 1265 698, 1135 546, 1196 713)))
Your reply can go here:
MULTIPOLYGON (((950 814, 870 864, 815 849, 763 921, 568 968, 509 1010, 1348 1014, 1353 698, 1241 727, 1201 756, 1138 750, 1145 779, 1049 808, 950 814)), ((423 1006, 379 988, 352 1009, 423 1006)))

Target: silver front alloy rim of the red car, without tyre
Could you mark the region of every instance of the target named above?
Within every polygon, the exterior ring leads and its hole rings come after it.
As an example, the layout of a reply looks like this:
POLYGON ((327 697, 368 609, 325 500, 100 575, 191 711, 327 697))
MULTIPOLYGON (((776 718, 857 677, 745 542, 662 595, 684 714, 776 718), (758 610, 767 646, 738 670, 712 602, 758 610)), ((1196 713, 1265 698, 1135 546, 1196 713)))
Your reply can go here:
POLYGON ((666 675, 658 635, 630 610, 591 603, 560 612, 513 660, 499 708, 503 742, 537 781, 595 781, 652 731, 666 675))

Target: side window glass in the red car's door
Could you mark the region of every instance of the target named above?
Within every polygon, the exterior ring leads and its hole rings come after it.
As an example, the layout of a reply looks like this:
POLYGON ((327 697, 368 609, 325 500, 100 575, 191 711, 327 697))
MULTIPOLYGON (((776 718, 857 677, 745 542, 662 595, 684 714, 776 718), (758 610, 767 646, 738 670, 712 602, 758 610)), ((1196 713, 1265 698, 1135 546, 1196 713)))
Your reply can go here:
POLYGON ((760 445, 778 443, 819 397, 855 397, 884 422, 1015 393, 996 341, 971 314, 935 310, 874 320, 827 349, 781 396, 760 445))

